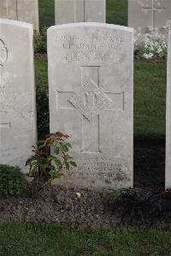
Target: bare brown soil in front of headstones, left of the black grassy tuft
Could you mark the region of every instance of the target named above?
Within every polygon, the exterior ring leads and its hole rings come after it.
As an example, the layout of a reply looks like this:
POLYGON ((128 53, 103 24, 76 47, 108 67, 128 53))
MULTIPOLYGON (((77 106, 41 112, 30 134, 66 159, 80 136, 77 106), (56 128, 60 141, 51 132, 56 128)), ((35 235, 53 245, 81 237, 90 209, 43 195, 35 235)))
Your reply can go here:
POLYGON ((103 200, 107 193, 52 186, 39 193, 28 191, 18 199, 0 198, 0 221, 24 221, 68 224, 74 227, 115 226, 115 217, 107 217, 103 200))

